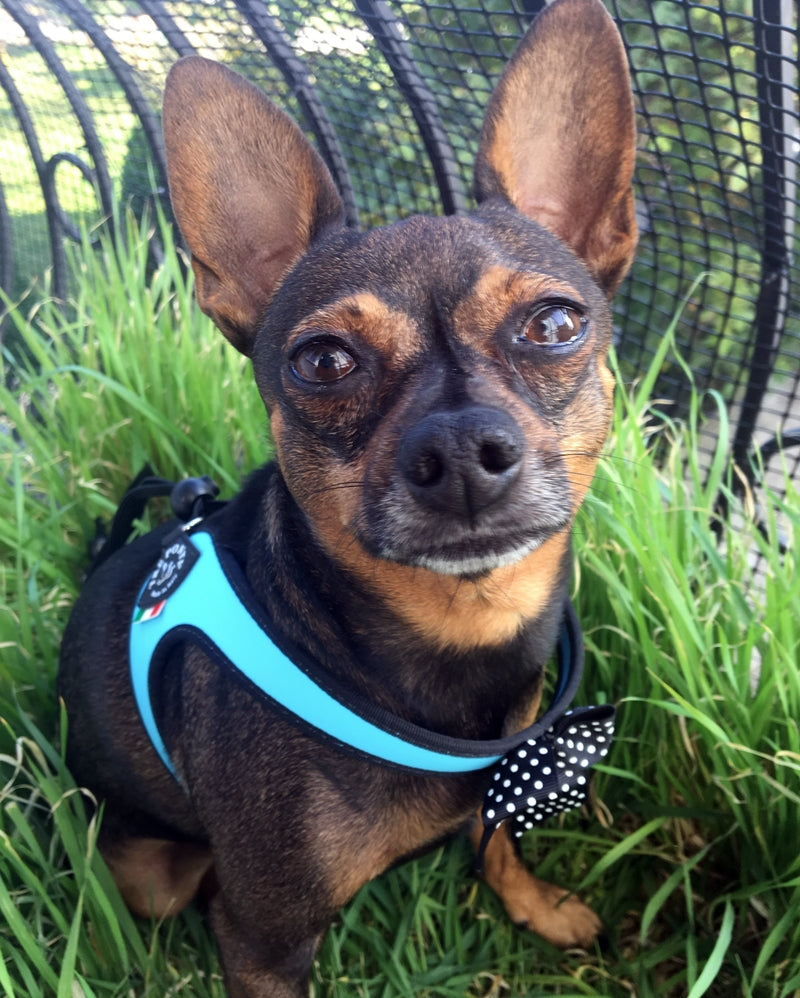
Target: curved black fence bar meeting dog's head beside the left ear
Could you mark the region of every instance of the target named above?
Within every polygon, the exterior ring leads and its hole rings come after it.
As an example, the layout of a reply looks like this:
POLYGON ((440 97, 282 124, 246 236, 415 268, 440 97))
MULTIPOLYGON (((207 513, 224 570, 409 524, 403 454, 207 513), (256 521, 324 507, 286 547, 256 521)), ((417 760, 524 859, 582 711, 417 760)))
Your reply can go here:
POLYGON ((358 228, 358 208, 350 180, 342 147, 336 130, 320 100, 316 87, 311 82, 308 70, 294 54, 280 24, 271 17, 266 8, 255 0, 236 0, 236 6, 244 14, 248 24, 269 53, 270 58, 283 74, 284 79, 297 97, 303 114, 319 145, 319 151, 328 169, 333 174, 344 203, 345 218, 352 228, 358 228))

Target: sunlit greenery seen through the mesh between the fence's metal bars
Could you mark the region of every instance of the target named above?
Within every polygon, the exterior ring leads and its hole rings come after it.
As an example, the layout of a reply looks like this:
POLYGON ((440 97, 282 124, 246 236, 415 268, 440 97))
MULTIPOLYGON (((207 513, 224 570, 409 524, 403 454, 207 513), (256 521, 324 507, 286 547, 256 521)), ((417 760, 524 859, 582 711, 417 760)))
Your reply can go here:
MULTIPOLYGON (((158 32, 148 34, 152 22, 139 16, 137 5, 93 0, 87 7, 114 38, 134 81, 157 110, 175 53, 158 32)), ((733 398, 754 336, 762 206, 774 196, 762 187, 756 12, 749 0, 724 5, 609 0, 609 9, 626 40, 640 133, 642 236, 631 279, 616 305, 623 367, 632 377, 649 364, 676 302, 699 271, 711 271, 713 279, 698 289, 683 313, 678 341, 696 383, 733 398)), ((469 202, 483 106, 529 19, 514 0, 482 0, 466 7, 398 0, 391 10, 419 78, 435 101, 469 202)), ((197 51, 243 72, 309 126, 292 86, 231 5, 173 3, 170 11, 197 51)), ((433 170, 413 114, 350 0, 328 0, 324 6, 312 0, 273 0, 265 14, 302 62, 308 84, 325 106, 348 162, 362 224, 437 211, 433 170)), ((54 49, 95 117, 121 200, 140 207, 154 183, 162 188, 156 196, 163 205, 163 178, 153 170, 119 82, 83 36, 66 30, 70 22, 63 12, 47 7, 46 15, 64 29, 54 49)), ((61 150, 84 155, 80 130, 41 57, 12 40, 4 58, 28 102, 45 156, 61 150)), ((5 164, 14 235, 13 297, 32 279, 42 279, 48 248, 35 171, 2 97, 0 130, 0 165, 5 164)), ((57 187, 74 221, 99 222, 91 188, 75 171, 60 167, 57 187)), ((787 210, 796 215, 797 202, 787 210)), ((788 322, 788 338, 800 339, 798 317, 792 313, 788 322)), ((659 389, 685 401, 686 380, 669 358, 659 389)))

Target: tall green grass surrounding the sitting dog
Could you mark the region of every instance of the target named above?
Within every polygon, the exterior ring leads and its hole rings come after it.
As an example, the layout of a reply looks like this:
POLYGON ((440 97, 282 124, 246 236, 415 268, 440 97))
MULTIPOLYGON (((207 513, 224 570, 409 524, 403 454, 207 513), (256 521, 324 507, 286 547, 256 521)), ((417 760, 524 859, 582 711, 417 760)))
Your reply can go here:
MULTIPOLYGON (((163 234, 162 234, 163 238, 163 234)), ((76 255, 63 311, 13 313, 30 362, 0 384, 0 994, 221 998, 213 940, 190 910, 127 914, 94 843, 102 815, 65 771, 54 672, 94 518, 149 459, 225 494, 269 452, 247 364, 199 313, 167 242, 76 255), (89 814, 93 814, 90 810, 89 814)), ((336 919, 317 998, 567 995, 789 998, 800 992, 800 498, 757 496, 716 522, 727 421, 701 467, 695 399, 678 423, 649 395, 664 356, 617 392, 576 527, 587 642, 579 702, 619 705, 591 813, 525 843, 608 926, 606 950, 557 952, 513 929, 470 877, 464 844, 367 885, 336 919), (659 461, 655 460, 658 452, 659 461), (758 579, 753 552, 761 554, 758 579)))

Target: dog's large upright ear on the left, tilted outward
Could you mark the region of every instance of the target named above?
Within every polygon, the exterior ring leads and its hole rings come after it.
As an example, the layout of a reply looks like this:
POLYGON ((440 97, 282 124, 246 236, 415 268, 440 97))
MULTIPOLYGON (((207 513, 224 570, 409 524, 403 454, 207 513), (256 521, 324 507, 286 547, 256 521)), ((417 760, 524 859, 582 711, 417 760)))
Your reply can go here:
POLYGON ((197 300, 249 356, 289 269, 317 233, 342 223, 336 187, 294 121, 219 63, 190 56, 172 67, 163 127, 197 300))

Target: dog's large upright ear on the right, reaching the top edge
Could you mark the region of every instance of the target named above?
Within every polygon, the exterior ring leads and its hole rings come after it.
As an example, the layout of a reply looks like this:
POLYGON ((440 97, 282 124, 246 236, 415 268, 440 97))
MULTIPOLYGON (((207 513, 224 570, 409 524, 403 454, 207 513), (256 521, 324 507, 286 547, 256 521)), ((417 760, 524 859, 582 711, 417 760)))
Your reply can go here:
POLYGON ((636 129, 622 39, 600 0, 555 0, 489 101, 479 201, 502 197, 546 226, 611 296, 636 246, 636 129))

